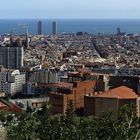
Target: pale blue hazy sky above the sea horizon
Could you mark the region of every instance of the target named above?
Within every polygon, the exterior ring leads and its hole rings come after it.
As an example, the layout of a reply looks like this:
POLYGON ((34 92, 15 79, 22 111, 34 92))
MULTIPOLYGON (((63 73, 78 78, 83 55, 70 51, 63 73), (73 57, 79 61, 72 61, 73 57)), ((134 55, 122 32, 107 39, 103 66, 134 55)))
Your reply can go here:
POLYGON ((0 0, 0 18, 140 18, 140 0, 0 0))

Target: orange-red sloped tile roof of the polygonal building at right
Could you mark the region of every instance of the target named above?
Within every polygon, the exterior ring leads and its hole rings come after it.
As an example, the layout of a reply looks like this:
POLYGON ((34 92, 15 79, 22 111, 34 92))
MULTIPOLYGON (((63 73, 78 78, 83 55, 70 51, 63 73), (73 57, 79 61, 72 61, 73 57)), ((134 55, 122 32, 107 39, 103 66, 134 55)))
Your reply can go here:
POLYGON ((120 86, 114 89, 110 89, 101 94, 95 95, 95 97, 102 98, 117 98, 117 99, 136 99, 138 96, 133 89, 126 86, 120 86))

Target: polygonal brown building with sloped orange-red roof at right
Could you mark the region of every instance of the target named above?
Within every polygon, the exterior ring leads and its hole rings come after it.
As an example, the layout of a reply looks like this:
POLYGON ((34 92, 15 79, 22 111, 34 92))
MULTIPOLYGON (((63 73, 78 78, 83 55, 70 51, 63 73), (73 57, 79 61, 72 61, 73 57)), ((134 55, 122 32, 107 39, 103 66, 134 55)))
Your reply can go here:
POLYGON ((137 103, 137 95, 125 86, 110 89, 93 96, 86 95, 84 98, 85 116, 93 115, 101 117, 105 112, 111 112, 113 118, 117 119, 123 105, 137 103))

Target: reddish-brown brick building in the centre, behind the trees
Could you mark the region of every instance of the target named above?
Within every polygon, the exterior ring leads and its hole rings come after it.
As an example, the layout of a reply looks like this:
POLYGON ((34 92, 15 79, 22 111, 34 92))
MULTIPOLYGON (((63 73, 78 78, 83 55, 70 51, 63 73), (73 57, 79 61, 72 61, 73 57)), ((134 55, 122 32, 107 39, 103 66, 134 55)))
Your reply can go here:
POLYGON ((69 100, 73 101, 74 110, 84 107, 84 96, 93 94, 95 81, 60 82, 52 84, 56 89, 49 94, 52 114, 64 114, 69 100))

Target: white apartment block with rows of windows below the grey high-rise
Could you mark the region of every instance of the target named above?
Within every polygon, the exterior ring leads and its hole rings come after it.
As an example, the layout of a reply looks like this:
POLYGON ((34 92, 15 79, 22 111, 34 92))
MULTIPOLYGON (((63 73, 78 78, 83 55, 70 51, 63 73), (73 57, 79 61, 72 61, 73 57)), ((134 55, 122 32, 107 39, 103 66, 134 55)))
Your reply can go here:
POLYGON ((0 71, 0 91, 12 96, 22 92, 24 84, 25 74, 21 74, 19 70, 3 69, 0 71))

